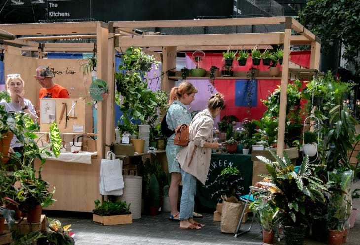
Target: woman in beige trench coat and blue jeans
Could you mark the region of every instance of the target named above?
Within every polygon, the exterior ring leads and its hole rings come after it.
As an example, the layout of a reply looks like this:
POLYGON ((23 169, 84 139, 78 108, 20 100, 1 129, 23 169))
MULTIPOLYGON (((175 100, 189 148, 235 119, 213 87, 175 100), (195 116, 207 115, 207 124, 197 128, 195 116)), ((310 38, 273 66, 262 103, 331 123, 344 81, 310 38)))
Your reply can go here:
POLYGON ((220 93, 208 100, 207 109, 199 112, 189 126, 189 144, 182 147, 177 155, 181 166, 182 195, 180 203, 180 229, 201 229, 204 225, 193 220, 196 179, 205 184, 208 175, 212 149, 220 144, 213 142, 214 118, 224 107, 220 93))

